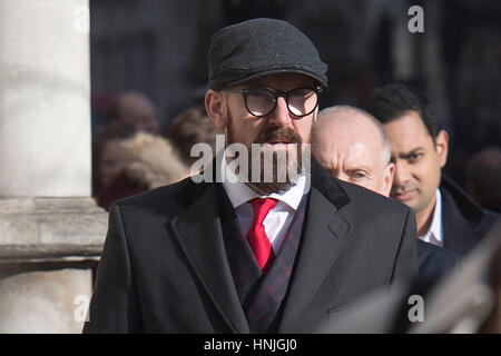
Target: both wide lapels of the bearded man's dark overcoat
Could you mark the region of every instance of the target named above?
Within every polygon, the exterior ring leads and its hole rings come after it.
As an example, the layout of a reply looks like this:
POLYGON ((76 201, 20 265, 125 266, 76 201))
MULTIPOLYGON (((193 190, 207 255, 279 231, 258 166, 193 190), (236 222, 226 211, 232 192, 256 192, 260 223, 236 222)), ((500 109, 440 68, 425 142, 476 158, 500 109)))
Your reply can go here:
MULTIPOLYGON (((312 300, 350 233, 350 224, 337 211, 350 198, 313 157, 311 179, 303 237, 278 333, 286 332, 312 300)), ((169 228, 230 329, 249 333, 225 253, 217 184, 190 182, 181 196, 186 209, 169 228)))

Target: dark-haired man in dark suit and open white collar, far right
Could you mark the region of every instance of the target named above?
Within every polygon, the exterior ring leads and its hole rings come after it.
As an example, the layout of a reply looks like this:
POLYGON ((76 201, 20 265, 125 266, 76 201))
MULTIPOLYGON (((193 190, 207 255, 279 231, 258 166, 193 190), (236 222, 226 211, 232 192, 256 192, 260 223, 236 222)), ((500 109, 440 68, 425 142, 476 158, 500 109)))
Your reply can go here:
POLYGON ((363 108, 384 126, 395 176, 391 197, 413 208, 419 237, 464 257, 499 219, 441 174, 449 137, 429 100, 392 83, 376 88, 363 108))

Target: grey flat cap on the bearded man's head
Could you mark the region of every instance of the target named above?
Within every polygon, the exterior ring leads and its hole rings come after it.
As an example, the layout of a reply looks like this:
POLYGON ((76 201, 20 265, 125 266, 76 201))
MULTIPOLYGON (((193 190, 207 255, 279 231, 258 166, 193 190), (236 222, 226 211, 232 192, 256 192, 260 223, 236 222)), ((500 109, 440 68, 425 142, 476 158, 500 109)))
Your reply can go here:
POLYGON ((210 40, 207 61, 214 90, 277 72, 306 75, 327 86, 327 65, 315 44, 282 20, 253 19, 220 29, 210 40))

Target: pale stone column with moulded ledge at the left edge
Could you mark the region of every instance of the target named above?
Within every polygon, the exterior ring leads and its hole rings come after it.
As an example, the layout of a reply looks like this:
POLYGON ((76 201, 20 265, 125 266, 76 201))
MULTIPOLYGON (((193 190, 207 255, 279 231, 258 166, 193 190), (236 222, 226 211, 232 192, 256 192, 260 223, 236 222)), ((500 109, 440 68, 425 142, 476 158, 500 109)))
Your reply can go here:
POLYGON ((90 162, 88 0, 1 0, 0 333, 81 330, 107 227, 90 162))

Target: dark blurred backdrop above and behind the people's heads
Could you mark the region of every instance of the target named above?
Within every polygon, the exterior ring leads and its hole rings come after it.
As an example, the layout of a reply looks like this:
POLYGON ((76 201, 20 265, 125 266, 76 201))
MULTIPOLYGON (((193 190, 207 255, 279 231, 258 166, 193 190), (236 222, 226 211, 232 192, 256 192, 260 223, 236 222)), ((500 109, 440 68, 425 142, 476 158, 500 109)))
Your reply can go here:
POLYGON ((445 172, 466 187, 465 164, 501 137, 500 1, 477 0, 90 0, 95 108, 137 90, 164 128, 202 103, 207 48, 219 28, 255 17, 283 19, 306 33, 328 65, 321 109, 360 107, 374 87, 411 85, 430 97, 450 135, 445 172), (407 29, 411 6, 424 32, 407 29), (109 101, 109 100, 108 100, 109 101))

